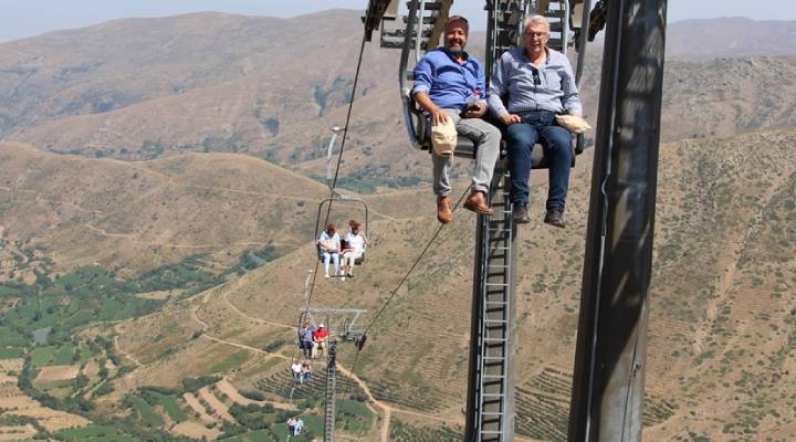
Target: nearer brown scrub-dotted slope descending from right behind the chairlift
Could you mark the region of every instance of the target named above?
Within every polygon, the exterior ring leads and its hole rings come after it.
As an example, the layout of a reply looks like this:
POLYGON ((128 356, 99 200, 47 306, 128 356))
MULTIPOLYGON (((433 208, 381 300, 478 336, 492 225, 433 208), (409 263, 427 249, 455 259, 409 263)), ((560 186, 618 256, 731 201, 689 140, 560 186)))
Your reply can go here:
MULTIPOLYGON (((796 369, 796 254, 789 246, 796 241, 796 161, 787 147, 794 141, 796 133, 782 130, 680 141, 661 150, 645 403, 648 439, 792 434, 796 391, 787 379, 796 369), (754 162, 745 160, 748 149, 757 152, 754 162), (723 407, 715 407, 716 401, 723 407)), ((517 431, 534 440, 562 441, 566 434, 588 166, 585 158, 573 179, 568 228, 545 227, 536 207, 534 222, 517 238, 517 431)), ((534 200, 544 192, 544 185, 537 186, 534 200)), ((373 313, 431 238, 436 222, 430 215, 374 223, 375 243, 356 277, 318 281, 314 287, 316 307, 370 312, 363 324, 371 326, 365 349, 356 354, 342 346, 338 358, 364 381, 378 401, 375 407, 394 409, 394 419, 405 410, 404 418, 413 413, 428 425, 438 419, 462 423, 473 222, 470 213, 458 212, 373 323, 373 313)), ((304 271, 313 269, 312 256, 305 245, 235 284, 136 323, 150 332, 121 336, 122 348, 151 361, 136 385, 169 385, 174 380, 159 373, 188 370, 185 361, 192 355, 234 351, 234 344, 261 348, 260 343, 284 340, 285 346, 270 351, 292 357, 291 325, 303 306, 297 294, 304 271), (163 335, 174 323, 182 332, 168 344, 147 337, 163 335), (197 330, 206 340, 186 340, 197 330), (164 345, 180 356, 157 358, 164 345)), ((284 400, 289 391, 281 370, 279 364, 266 372, 245 366, 238 379, 284 400)), ((196 373, 196 367, 189 371, 196 373)))

